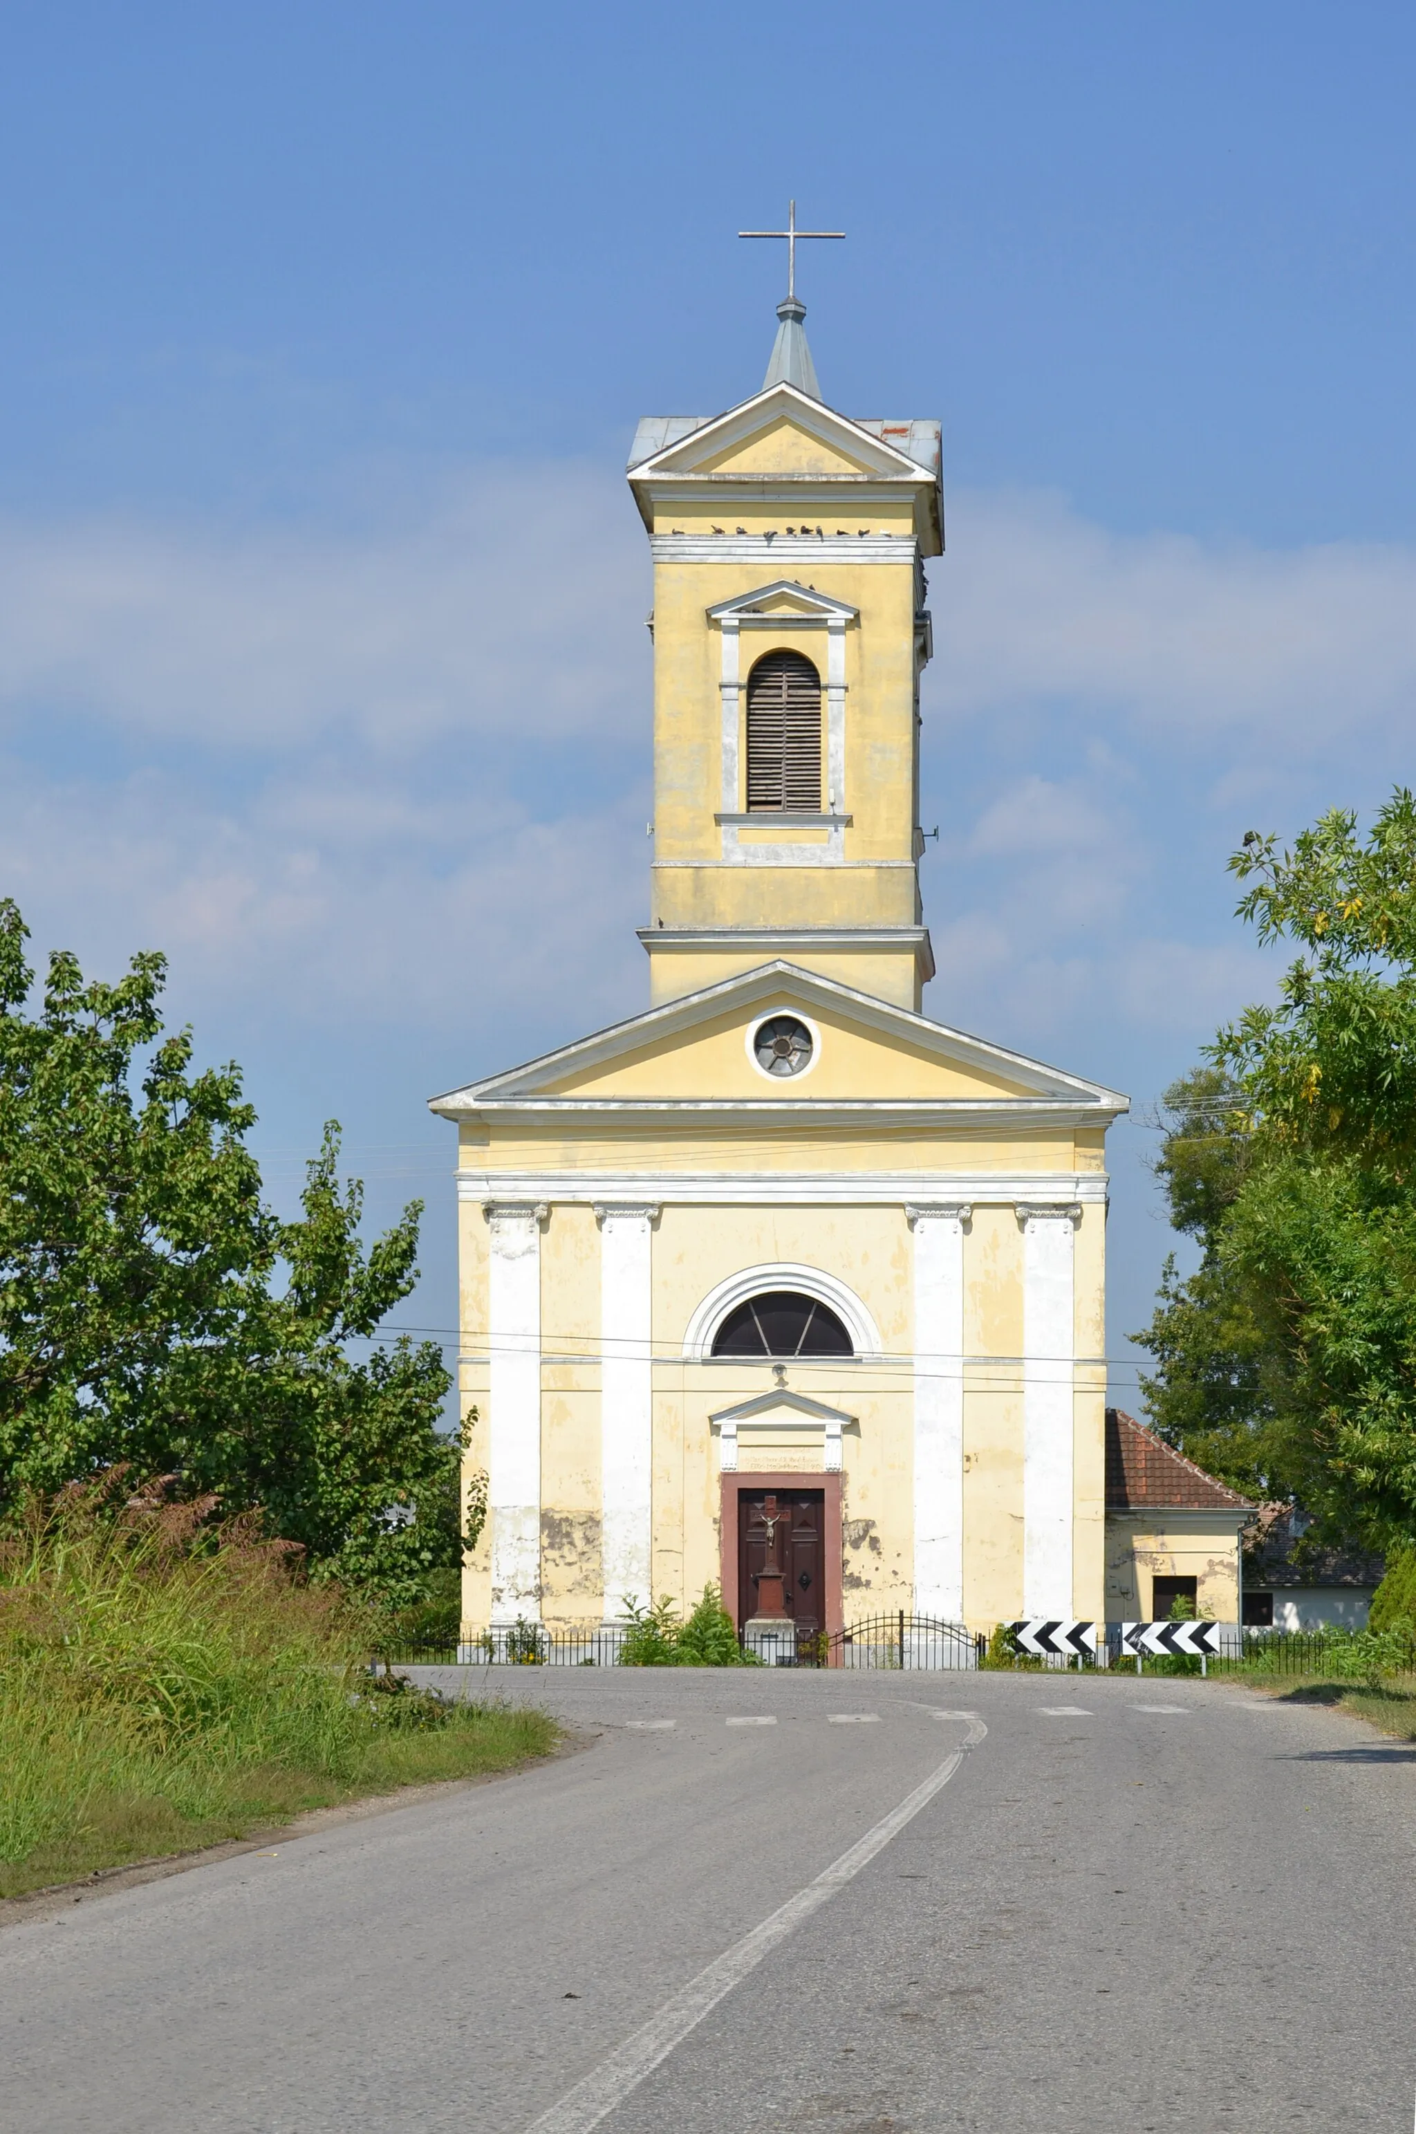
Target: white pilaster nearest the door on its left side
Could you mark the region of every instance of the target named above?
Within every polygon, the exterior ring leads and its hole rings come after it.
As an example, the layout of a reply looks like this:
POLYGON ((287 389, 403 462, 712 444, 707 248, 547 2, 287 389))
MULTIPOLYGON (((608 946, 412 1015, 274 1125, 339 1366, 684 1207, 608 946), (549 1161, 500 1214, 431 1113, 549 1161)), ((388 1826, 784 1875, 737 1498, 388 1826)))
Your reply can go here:
POLYGON ((648 1204, 597 1206, 599 1472, 606 1622, 629 1594, 650 1600, 653 1541, 653 1227, 648 1204))

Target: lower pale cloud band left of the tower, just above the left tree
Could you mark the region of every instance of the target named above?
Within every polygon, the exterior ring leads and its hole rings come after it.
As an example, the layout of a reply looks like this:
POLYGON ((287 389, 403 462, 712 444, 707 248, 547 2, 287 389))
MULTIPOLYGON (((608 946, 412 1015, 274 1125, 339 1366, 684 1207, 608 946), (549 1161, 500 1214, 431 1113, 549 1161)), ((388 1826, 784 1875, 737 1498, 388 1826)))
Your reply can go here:
POLYGON ((162 947, 181 1014, 241 1001, 356 1041, 495 1018, 514 1050, 567 986, 591 1020, 621 1014, 642 960, 635 828, 642 843, 629 802, 552 822, 505 798, 420 802, 367 760, 343 787, 271 781, 239 809, 168 773, 98 785, 0 766, 0 888, 41 954, 75 945, 113 973, 162 947))

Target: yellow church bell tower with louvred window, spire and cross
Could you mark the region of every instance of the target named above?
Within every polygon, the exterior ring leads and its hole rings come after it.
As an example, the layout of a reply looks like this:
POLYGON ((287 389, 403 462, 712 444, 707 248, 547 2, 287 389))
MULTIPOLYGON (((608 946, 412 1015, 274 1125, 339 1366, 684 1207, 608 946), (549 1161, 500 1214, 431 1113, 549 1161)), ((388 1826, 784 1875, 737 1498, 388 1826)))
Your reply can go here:
MULTIPOLYGON (((793 262, 808 233, 744 235, 793 262)), ((655 563, 650 999, 781 956, 917 1012, 938 423, 825 405, 793 265, 776 316, 759 393, 646 416, 629 457, 655 563)))

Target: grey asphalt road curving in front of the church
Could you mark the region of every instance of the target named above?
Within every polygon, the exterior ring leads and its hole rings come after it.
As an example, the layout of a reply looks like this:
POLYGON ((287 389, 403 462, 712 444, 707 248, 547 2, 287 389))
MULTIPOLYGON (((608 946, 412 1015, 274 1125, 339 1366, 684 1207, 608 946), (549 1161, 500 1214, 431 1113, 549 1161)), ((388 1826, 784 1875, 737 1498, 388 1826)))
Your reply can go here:
POLYGON ((1201 1682, 493 1686, 597 1739, 0 1933, 6 2134, 1412 2134, 1414 1746, 1201 1682))

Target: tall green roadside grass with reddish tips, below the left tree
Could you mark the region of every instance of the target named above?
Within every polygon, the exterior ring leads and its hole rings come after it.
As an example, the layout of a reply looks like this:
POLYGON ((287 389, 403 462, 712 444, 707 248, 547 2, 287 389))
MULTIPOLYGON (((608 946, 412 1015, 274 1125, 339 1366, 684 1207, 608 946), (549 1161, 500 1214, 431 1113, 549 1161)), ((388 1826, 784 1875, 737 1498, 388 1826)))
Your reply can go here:
POLYGON ((369 1694, 367 1624, 286 1549, 111 1494, 0 1536, 0 1895, 552 1746, 542 1714, 369 1694))

